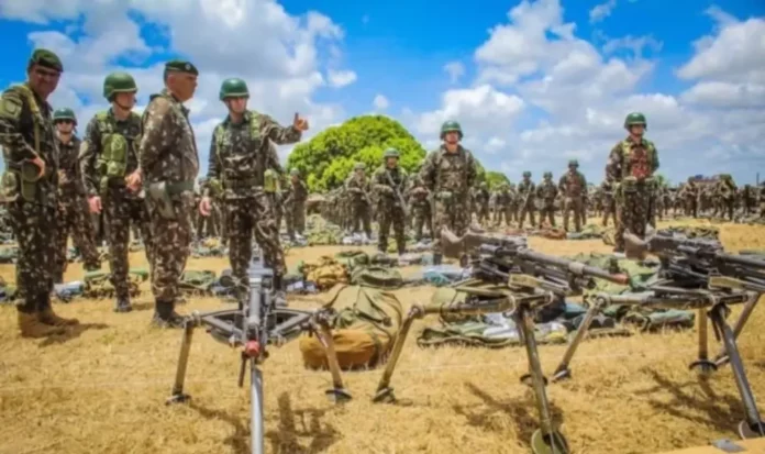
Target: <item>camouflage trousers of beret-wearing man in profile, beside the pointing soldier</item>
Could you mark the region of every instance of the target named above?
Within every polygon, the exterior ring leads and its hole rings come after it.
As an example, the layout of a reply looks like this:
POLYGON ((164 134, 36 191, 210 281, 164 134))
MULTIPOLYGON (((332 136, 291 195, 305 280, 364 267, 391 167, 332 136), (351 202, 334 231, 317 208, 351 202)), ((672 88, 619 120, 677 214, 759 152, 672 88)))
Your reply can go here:
POLYGON ((156 302, 165 303, 173 303, 180 297, 178 283, 191 251, 191 214, 197 208, 191 192, 174 195, 171 200, 175 215, 168 219, 162 214, 156 200, 146 199, 154 244, 151 262, 152 294, 156 302))

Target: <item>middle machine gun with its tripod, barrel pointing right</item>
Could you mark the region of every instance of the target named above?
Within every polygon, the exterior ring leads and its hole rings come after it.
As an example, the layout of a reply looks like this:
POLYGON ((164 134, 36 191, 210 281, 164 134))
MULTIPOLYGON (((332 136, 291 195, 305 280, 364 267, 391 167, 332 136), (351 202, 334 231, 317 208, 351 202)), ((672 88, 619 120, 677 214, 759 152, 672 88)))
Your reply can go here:
POLYGON ((386 369, 377 386, 375 402, 395 402, 390 379, 414 320, 428 314, 485 314, 511 312, 525 346, 529 374, 521 380, 530 384, 536 397, 540 429, 531 438, 535 454, 568 454, 568 443, 552 420, 545 391, 546 378, 534 337, 534 313, 556 299, 588 286, 588 279, 603 278, 624 283, 627 276, 612 276, 599 268, 541 254, 528 248, 525 239, 494 236, 468 232, 462 237, 447 229, 442 230, 444 255, 458 257, 466 250, 474 256, 473 278, 455 285, 455 290, 466 294, 464 302, 447 306, 414 304, 401 325, 386 369))

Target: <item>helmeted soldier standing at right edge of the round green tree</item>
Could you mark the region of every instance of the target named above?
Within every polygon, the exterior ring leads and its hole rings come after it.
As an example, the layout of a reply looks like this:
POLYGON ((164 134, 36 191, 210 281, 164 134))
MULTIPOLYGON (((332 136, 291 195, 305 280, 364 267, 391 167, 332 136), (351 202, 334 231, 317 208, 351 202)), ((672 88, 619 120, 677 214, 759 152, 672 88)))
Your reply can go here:
POLYGON ((456 121, 441 125, 441 147, 431 152, 420 176, 433 192, 433 264, 441 265, 443 250, 441 229, 447 228, 455 235, 463 235, 469 224, 469 188, 476 181, 477 169, 473 153, 464 148, 462 128, 456 121))

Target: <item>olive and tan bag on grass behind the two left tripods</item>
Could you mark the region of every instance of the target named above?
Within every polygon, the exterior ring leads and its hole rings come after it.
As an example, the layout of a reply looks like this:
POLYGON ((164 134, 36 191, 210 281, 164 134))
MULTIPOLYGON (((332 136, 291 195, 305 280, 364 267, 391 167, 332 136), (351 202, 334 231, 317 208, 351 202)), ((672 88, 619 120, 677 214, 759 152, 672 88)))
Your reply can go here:
MULTIPOLYGON (((332 340, 342 369, 375 367, 387 358, 403 320, 403 307, 393 294, 339 284, 330 290, 324 307, 337 311, 332 321, 332 340)), ((306 367, 328 367, 317 336, 302 336, 300 353, 306 367)))

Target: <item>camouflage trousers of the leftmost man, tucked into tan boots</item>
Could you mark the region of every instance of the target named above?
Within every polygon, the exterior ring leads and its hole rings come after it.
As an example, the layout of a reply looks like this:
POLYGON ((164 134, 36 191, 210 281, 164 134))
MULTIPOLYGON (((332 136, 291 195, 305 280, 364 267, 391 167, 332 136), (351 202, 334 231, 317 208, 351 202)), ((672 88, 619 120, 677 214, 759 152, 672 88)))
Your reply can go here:
POLYGON ((19 243, 15 264, 16 308, 21 312, 44 309, 53 290, 58 252, 56 209, 16 200, 7 204, 13 235, 19 243))

